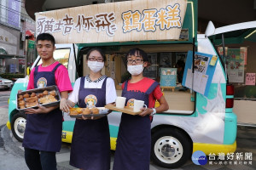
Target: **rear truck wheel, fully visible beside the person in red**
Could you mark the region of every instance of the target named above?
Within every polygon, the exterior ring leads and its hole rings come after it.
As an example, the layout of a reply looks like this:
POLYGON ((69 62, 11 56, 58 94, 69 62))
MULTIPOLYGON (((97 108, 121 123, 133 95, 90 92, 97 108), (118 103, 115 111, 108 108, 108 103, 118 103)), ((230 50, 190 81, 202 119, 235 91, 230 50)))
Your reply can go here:
POLYGON ((181 167, 191 154, 190 139, 177 128, 164 128, 153 133, 151 160, 160 167, 181 167))

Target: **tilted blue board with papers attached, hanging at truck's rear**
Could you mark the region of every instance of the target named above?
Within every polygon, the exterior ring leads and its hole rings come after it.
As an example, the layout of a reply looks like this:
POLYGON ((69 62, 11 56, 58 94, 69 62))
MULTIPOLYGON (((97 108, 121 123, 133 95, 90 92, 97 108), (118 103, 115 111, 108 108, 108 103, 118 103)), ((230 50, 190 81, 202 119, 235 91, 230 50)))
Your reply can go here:
POLYGON ((183 73, 183 86, 207 96, 218 60, 216 56, 212 57, 211 54, 195 52, 195 70, 194 73, 192 73, 193 52, 189 51, 183 73))

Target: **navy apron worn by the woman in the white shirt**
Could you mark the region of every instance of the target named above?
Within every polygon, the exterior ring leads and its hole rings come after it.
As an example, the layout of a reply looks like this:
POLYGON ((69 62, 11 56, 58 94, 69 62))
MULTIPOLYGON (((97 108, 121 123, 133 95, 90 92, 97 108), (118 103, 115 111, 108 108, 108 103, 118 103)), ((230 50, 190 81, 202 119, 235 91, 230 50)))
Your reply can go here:
MULTIPOLYGON (((79 107, 104 107, 106 105, 106 82, 102 88, 84 88, 81 77, 79 88, 79 107)), ((110 135, 108 117, 97 120, 77 119, 73 129, 70 151, 70 165, 84 170, 109 170, 110 168, 110 135)))

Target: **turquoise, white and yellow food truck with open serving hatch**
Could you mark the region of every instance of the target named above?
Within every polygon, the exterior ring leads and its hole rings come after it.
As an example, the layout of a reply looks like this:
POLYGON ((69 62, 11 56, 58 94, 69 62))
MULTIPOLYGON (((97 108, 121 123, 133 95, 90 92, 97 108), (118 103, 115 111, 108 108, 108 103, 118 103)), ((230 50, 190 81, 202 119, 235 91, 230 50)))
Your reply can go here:
MULTIPOLYGON (((169 110, 154 115, 151 123, 154 163, 181 167, 196 150, 206 155, 236 150, 234 90, 227 82, 223 59, 207 34, 197 35, 197 0, 141 0, 64 8, 36 14, 36 23, 37 34, 49 32, 55 37, 54 57, 67 67, 72 83, 89 73, 85 56, 90 48, 102 48, 107 57, 102 74, 113 78, 118 96, 122 82, 129 78, 125 53, 131 48, 148 53, 151 65, 143 74, 160 82, 169 104, 169 110), (177 81, 178 60, 185 63, 182 82, 177 81)), ((32 68, 40 64, 38 56, 32 68)), ((26 114, 17 111, 15 97, 19 89, 26 90, 28 78, 15 82, 9 99, 7 127, 19 141, 23 139, 26 114)), ((108 115, 112 150, 121 114, 113 111, 108 115)), ((63 116, 62 141, 71 143, 74 119, 67 113, 63 116)))

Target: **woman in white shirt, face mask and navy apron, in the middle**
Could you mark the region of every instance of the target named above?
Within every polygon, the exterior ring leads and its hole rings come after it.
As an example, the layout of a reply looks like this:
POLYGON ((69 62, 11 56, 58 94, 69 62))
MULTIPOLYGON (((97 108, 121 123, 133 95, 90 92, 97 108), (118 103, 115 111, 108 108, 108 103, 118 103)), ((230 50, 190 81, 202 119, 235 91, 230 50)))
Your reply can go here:
MULTIPOLYGON (((106 60, 100 48, 90 49, 86 55, 90 75, 76 80, 68 104, 73 107, 104 107, 116 99, 113 79, 102 76, 106 60)), ((65 108, 66 112, 69 108, 65 108)), ((71 144, 70 165, 84 170, 110 169, 110 135, 108 117, 76 119, 71 144)))

